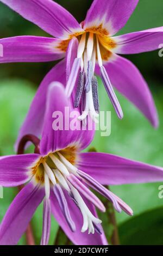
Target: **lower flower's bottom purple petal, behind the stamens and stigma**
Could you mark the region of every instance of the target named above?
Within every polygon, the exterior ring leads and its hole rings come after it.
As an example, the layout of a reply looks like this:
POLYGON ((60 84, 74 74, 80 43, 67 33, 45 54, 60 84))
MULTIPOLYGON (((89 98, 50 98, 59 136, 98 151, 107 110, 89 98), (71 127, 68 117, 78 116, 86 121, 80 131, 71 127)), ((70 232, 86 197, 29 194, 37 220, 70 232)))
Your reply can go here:
MULTIPOLYGON (((68 207, 70 209, 70 214, 72 216, 72 220, 76 224, 76 231, 72 232, 70 227, 68 226, 67 222, 65 221, 65 218, 62 217, 62 212, 59 208, 59 204, 57 202, 57 199, 55 196, 51 193, 51 206, 52 206, 52 213, 54 215, 54 218, 59 223, 60 227, 64 230, 65 234, 68 236, 68 238, 74 243, 74 245, 107 245, 106 237, 104 235, 104 231, 102 230, 102 235, 99 235, 97 233, 95 234, 88 234, 87 231, 85 233, 81 232, 82 226, 83 226, 83 217, 76 206, 76 204, 73 202, 73 200, 68 196, 67 193, 65 193, 65 197, 67 200, 68 207)), ((85 198, 84 201, 87 205, 87 207, 90 209, 92 214, 97 217, 96 210, 94 206, 89 203, 85 198)))

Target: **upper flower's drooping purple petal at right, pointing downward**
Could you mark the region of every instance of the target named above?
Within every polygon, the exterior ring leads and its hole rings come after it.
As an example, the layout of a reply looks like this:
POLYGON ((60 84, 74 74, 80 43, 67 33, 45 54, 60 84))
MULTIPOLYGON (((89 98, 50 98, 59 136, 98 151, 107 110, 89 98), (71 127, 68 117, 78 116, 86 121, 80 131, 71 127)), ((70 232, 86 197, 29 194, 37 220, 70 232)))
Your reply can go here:
MULTIPOLYGON (((140 71, 128 59, 116 54, 112 54, 112 56, 112 60, 104 64, 111 84, 129 101, 134 103, 154 127, 157 127, 158 115, 155 104, 140 71)), ((100 74, 98 65, 96 66, 96 72, 100 74)))

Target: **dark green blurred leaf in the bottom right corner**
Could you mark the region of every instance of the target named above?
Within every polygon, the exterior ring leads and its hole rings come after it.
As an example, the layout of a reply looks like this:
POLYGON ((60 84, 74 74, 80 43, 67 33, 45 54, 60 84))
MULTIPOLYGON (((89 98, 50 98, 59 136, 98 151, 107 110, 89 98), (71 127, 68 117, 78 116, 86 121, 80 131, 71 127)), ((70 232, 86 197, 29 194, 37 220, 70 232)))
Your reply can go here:
POLYGON ((147 211, 119 227, 121 245, 163 245, 163 209, 147 211))

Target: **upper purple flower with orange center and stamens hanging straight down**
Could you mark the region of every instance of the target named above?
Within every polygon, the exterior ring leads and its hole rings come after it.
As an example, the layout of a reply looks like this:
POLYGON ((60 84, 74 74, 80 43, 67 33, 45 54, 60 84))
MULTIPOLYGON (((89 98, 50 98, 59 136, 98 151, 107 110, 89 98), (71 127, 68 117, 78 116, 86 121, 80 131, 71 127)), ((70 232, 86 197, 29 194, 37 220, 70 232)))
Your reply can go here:
POLYGON ((70 60, 71 54, 77 50, 72 69, 69 61, 66 65, 66 92, 71 95, 79 73, 74 107, 83 102, 84 113, 80 120, 89 113, 95 121, 98 116, 96 72, 101 75, 119 118, 123 113, 112 84, 140 109, 154 127, 158 126, 158 116, 146 81, 129 60, 118 54, 156 50, 163 39, 163 28, 113 36, 126 24, 139 0, 123 0, 123 4, 120 0, 94 0, 80 25, 68 11, 51 0, 0 1, 55 37, 1 39, 4 57, 0 62, 45 62, 63 58, 66 53, 70 60))

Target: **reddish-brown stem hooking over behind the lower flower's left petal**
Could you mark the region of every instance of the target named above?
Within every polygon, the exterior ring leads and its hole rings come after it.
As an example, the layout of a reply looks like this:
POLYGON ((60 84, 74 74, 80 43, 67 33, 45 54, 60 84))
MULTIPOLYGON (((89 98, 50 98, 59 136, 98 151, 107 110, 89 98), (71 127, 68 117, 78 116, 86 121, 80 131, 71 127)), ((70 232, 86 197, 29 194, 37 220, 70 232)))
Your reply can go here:
MULTIPOLYGON (((37 138, 34 135, 25 135, 19 145, 18 145, 18 150, 17 154, 24 154, 24 148, 26 147, 27 142, 32 142, 35 145, 35 151, 34 153, 39 154, 40 149, 39 149, 39 144, 40 144, 40 139, 37 138)), ((18 190, 20 191, 23 188, 23 185, 18 186, 18 190)), ((31 223, 28 224, 27 230, 26 230, 26 241, 27 245, 35 245, 35 240, 34 240, 34 235, 33 235, 33 230, 32 230, 32 225, 31 223)))

